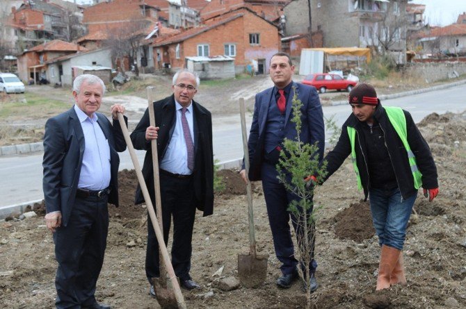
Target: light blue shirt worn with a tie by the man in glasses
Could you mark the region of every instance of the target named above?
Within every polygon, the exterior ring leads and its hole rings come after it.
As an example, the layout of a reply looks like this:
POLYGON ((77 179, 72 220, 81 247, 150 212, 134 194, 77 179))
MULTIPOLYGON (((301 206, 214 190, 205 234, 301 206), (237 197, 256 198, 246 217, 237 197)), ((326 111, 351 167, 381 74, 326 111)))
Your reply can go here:
MULTIPOLYGON (((190 175, 191 169, 188 168, 188 150, 186 149, 186 142, 184 141, 183 124, 182 124, 182 108, 175 100, 175 108, 177 115, 177 122, 175 124, 175 130, 173 135, 168 142, 167 151, 165 156, 160 162, 160 168, 173 174, 190 175)), ((188 120, 189 131, 191 132, 191 140, 194 145, 194 129, 193 129, 193 103, 187 107, 186 120, 188 120)))

